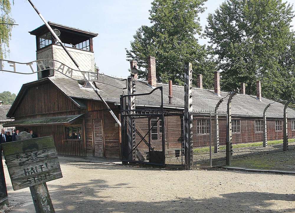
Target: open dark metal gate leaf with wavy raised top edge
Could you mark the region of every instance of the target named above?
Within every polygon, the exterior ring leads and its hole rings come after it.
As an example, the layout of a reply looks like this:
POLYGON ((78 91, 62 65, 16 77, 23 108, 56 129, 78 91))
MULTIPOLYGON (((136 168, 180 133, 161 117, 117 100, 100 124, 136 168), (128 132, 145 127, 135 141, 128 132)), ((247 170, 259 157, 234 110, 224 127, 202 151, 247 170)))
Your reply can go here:
POLYGON ((164 166, 163 88, 124 95, 120 103, 122 162, 164 166))

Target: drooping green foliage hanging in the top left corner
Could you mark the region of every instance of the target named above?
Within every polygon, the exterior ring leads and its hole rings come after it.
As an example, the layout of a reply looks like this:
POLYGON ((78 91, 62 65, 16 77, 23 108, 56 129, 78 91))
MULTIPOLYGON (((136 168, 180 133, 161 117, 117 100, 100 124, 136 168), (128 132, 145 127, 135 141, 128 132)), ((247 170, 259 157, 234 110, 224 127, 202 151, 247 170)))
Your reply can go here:
MULTIPOLYGON (((12 1, 12 3, 14 3, 12 1)), ((14 19, 11 17, 11 4, 9 0, 0 1, 0 59, 9 53, 9 41, 11 39, 11 31, 14 19)))

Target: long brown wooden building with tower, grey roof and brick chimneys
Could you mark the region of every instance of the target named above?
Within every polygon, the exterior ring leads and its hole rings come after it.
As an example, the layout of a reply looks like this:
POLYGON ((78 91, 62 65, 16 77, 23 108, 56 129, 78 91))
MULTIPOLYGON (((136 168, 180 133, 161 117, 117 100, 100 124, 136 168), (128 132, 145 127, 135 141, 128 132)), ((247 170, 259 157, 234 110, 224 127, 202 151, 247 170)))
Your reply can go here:
MULTIPOLYGON (((74 58, 82 64, 84 70, 95 72, 94 52, 92 38, 96 33, 69 28, 51 23, 53 28, 60 31, 60 38, 67 45, 74 58)), ((37 59, 56 59, 75 67, 70 59, 56 44, 44 26, 30 32, 36 35, 37 59)), ((153 88, 163 87, 163 105, 165 110, 183 112, 184 88, 156 82, 156 61, 154 57, 148 58, 148 81, 137 80, 136 93, 148 93, 153 88), (173 94, 173 97, 169 96, 173 94)), ((130 67, 136 66, 132 61, 130 67)), ((58 69, 56 67, 55 69, 58 69)), ((81 78, 79 72, 75 78, 81 78)), ((115 115, 119 118, 120 95, 127 94, 126 79, 114 78, 97 73, 99 82, 96 87, 106 100, 115 115)), ((137 76, 135 76, 137 79, 137 76)), ((193 108, 195 112, 214 110, 217 102, 228 95, 220 91, 219 73, 215 75, 214 90, 203 89, 202 76, 198 75, 198 85, 193 88, 193 108)), ((260 82, 258 82, 257 95, 246 95, 245 88, 232 100, 232 138, 233 143, 249 143, 262 141, 263 110, 267 110, 268 140, 283 138, 283 104, 261 96, 260 82)), ((219 110, 226 111, 228 96, 220 105, 219 110)), ((136 107, 158 105, 160 99, 151 97, 139 100, 136 107)), ((57 152, 60 155, 86 156, 86 157, 112 157, 121 155, 121 130, 102 101, 86 81, 73 80, 61 75, 55 70, 43 70, 38 74, 38 80, 26 83, 19 91, 12 104, 7 117, 15 121, 4 126, 15 126, 20 131, 34 130, 39 136, 53 135, 57 152)), ((295 111, 287 109, 289 138, 295 138, 295 111)), ((156 120, 156 119, 155 119, 156 120)), ((208 117, 194 117, 194 146, 209 145, 210 124, 208 117)), ((142 120, 138 124, 142 131, 154 120, 142 120)), ((181 116, 170 116, 164 121, 162 127, 158 122, 151 130, 152 143, 161 140, 162 130, 165 134, 165 148, 167 155, 177 155, 182 149, 183 125, 181 116)), ((212 127, 213 128, 213 127, 212 127)), ((226 122, 219 118, 219 140, 225 144, 226 122)))

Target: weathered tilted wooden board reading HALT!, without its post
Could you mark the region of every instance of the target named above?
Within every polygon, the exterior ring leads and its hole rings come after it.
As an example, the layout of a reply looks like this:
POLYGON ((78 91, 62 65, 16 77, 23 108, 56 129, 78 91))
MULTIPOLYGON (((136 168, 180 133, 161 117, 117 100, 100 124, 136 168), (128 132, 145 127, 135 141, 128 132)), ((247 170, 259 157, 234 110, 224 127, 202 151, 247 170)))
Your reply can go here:
POLYGON ((2 143, 14 190, 62 178, 53 136, 2 143))

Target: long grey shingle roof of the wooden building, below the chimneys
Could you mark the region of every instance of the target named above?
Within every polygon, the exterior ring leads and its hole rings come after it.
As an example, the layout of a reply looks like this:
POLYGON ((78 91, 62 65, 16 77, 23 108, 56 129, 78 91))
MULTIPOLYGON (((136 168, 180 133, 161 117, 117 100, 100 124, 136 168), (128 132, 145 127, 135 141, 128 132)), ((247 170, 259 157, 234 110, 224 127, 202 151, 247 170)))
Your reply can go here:
MULTIPOLYGON (((50 77, 52 81, 60 90, 62 90, 66 95, 72 98, 80 99, 93 99, 100 100, 96 93, 91 88, 80 88, 77 81, 69 78, 60 77, 50 77)), ((99 81, 103 83, 96 83, 97 87, 100 89, 101 96, 107 102, 120 103, 120 95, 127 94, 126 81, 114 79, 110 76, 99 74, 99 81), (112 86, 115 85, 116 87, 112 86)), ((169 104, 169 85, 163 83, 157 83, 157 86, 163 86, 163 103, 164 106, 172 107, 184 107, 184 87, 173 85, 173 104, 169 104)), ((151 88, 147 82, 138 80, 136 83, 135 93, 148 93, 153 88, 151 88)), ((195 111, 199 110, 214 110, 218 101, 227 96, 228 92, 221 92, 221 97, 214 94, 213 90, 193 88, 193 108, 195 111)), ((219 106, 220 111, 226 111, 227 98, 224 99, 222 104, 219 106)), ((160 101, 155 100, 155 96, 150 96, 147 98, 145 96, 144 104, 154 105, 160 101), (149 100, 148 100, 149 99, 149 100)), ((143 102, 143 100, 141 100, 143 102)), ((232 115, 240 116, 256 116, 262 117, 263 110, 267 104, 273 103, 274 101, 262 98, 262 100, 256 99, 256 96, 237 94, 232 100, 232 115)), ((283 117, 283 104, 275 102, 267 110, 267 116, 269 117, 283 117)), ((287 109, 287 116, 295 118, 295 111, 293 109, 287 109)))

